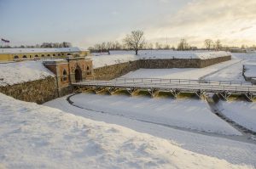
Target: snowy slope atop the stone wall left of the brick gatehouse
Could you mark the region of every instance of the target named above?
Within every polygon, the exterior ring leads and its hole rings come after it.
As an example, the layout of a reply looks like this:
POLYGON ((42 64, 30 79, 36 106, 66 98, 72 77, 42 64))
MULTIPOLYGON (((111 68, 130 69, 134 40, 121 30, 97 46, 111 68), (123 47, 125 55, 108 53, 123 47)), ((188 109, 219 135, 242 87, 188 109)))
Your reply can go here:
POLYGON ((54 76, 41 61, 0 64, 0 86, 31 82, 54 76))

